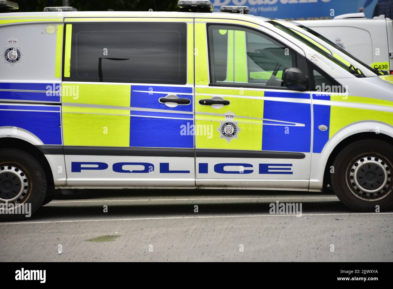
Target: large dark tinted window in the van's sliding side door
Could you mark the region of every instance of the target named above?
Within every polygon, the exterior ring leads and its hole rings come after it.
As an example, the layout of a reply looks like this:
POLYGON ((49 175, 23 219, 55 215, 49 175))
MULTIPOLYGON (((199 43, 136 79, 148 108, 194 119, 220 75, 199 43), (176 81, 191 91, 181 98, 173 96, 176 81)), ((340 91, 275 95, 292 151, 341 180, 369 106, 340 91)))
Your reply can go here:
POLYGON ((185 84, 185 23, 72 24, 66 81, 185 84))

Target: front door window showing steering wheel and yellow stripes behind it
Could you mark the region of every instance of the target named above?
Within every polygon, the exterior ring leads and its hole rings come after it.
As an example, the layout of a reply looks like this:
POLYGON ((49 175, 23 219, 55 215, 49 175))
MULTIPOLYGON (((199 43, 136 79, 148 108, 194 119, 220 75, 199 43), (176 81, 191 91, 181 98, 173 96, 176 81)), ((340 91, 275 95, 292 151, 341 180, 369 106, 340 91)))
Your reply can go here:
POLYGON ((252 29, 209 25, 211 82, 284 86, 283 70, 296 67, 294 51, 252 29))

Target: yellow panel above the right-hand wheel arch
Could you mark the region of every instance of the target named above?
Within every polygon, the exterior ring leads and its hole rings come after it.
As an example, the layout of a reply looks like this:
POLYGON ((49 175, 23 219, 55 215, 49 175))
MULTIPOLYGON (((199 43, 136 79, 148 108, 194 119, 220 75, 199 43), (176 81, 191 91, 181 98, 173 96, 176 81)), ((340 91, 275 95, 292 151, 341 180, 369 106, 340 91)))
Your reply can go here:
POLYGON ((393 126, 393 113, 366 110, 362 108, 331 106, 329 139, 343 127, 357 121, 367 120, 380 121, 393 126))

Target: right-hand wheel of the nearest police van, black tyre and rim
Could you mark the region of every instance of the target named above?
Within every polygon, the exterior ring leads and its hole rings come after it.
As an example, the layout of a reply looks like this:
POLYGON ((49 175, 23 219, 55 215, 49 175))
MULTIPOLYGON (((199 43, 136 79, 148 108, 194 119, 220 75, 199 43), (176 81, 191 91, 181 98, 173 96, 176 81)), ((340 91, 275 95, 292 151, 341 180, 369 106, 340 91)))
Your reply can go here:
POLYGON ((362 139, 343 148, 333 161, 334 193, 348 208, 380 212, 393 208, 393 146, 377 139, 362 139))

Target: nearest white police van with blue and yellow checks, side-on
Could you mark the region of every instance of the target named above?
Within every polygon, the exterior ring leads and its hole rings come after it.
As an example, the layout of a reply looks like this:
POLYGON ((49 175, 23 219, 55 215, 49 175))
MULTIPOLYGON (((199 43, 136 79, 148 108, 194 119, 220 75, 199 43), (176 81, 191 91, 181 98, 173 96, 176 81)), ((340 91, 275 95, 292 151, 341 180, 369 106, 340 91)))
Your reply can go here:
POLYGON ((1 14, 0 218, 83 188, 330 184, 393 207, 393 84, 248 7, 178 6, 1 14))

